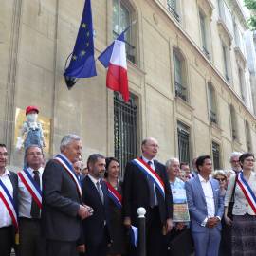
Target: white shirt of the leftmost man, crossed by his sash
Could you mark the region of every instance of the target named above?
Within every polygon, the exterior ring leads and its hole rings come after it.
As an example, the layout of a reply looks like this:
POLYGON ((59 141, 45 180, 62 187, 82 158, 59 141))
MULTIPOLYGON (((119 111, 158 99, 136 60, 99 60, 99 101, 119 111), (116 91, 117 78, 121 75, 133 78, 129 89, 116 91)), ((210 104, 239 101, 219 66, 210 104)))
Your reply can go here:
MULTIPOLYGON (((13 187, 9 179, 9 175, 10 173, 6 169, 5 173, 2 176, 0 176, 0 179, 2 180, 4 185, 7 187, 9 194, 13 198, 13 187)), ((1 187, 1 191, 2 191, 2 187, 1 187)), ((7 207, 4 204, 3 200, 0 199, 0 228, 8 227, 10 225, 12 225, 12 220, 9 216, 9 211, 7 210, 7 207)))

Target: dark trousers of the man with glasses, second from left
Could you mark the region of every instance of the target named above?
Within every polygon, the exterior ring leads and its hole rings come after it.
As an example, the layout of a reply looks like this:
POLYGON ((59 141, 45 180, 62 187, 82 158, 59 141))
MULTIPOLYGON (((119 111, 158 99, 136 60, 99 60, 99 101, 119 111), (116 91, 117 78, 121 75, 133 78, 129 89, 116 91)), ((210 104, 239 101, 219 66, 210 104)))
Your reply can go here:
POLYGON ((41 234, 40 225, 39 219, 19 219, 19 256, 46 256, 46 240, 41 234))

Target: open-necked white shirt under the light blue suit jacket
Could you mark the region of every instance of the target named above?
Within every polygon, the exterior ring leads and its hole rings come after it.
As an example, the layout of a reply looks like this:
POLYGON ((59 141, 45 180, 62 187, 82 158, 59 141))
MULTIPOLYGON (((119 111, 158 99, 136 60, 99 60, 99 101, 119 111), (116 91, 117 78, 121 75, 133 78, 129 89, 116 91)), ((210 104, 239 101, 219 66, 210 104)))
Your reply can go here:
POLYGON ((200 174, 198 174, 199 180, 201 182, 203 192, 205 194, 206 203, 207 203, 207 212, 208 218, 215 216, 215 204, 214 204, 214 197, 213 191, 210 184, 210 180, 205 180, 200 174))

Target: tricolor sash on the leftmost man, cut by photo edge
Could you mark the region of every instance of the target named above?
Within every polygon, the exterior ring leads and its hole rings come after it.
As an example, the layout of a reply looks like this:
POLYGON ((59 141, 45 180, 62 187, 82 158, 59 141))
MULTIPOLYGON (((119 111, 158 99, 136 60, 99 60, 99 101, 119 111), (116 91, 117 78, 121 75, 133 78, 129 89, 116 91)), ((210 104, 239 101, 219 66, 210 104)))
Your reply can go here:
POLYGON ((6 206, 9 216, 11 218, 12 224, 16 229, 16 233, 18 233, 19 226, 18 226, 18 218, 17 213, 14 206, 14 201, 12 196, 10 195, 7 187, 3 183, 3 181, 0 179, 0 198, 2 199, 4 205, 6 206))

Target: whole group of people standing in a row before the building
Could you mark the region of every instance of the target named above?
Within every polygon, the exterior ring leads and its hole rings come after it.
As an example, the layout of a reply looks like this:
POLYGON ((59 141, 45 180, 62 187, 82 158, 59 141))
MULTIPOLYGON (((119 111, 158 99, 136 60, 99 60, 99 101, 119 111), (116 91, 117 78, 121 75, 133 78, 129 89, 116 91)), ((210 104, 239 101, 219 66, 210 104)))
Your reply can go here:
POLYGON ((19 256, 139 256, 137 209, 146 210, 146 255, 256 255, 254 155, 233 153, 232 171, 212 172, 210 155, 188 163, 155 158, 147 137, 126 165, 89 155, 82 173, 82 141, 64 136, 45 165, 40 146, 26 148, 27 167, 7 168, 0 144, 0 254, 19 256))

